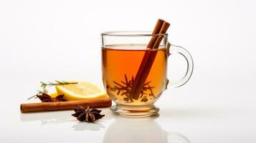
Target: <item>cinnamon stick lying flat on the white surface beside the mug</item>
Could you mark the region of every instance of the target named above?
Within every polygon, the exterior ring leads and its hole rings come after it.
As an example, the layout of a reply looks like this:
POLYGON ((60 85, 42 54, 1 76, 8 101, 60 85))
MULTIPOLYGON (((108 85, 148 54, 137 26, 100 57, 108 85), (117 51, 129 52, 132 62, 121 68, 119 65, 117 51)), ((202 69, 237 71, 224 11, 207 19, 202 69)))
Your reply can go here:
POLYGON ((21 112, 44 112, 44 111, 57 111, 74 109, 77 105, 82 107, 110 107, 111 100, 108 97, 102 97, 97 99, 80 99, 69 102, 40 102, 40 103, 28 103, 21 104, 21 112))

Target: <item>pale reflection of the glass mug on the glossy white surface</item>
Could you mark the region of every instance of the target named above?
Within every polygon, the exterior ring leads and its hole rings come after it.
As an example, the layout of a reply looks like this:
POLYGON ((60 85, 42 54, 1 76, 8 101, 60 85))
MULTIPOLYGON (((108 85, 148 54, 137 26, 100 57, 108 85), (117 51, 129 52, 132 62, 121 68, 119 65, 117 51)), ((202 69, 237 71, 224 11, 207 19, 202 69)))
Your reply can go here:
POLYGON ((184 135, 163 130, 154 119, 116 117, 105 132, 103 143, 189 143, 184 135))

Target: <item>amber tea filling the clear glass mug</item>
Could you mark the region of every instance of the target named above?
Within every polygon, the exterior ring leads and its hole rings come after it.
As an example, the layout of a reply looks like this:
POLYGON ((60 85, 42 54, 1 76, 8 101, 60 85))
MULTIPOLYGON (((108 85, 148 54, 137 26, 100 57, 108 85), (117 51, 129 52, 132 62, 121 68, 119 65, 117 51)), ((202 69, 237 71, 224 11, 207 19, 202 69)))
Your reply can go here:
POLYGON ((146 85, 143 87, 140 97, 131 100, 129 92, 132 82, 147 50, 140 46, 132 46, 132 50, 131 46, 126 46, 126 49, 124 46, 102 48, 103 83, 108 96, 114 102, 130 106, 144 106, 156 102, 167 84, 167 54, 165 48, 154 50, 157 54, 144 83, 146 85))

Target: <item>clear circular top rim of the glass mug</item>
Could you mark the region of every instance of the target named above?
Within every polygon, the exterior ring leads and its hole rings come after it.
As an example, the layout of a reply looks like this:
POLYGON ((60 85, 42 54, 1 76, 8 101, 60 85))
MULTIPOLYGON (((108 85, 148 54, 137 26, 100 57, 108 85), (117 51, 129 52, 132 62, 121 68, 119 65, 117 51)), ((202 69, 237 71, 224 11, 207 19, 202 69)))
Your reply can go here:
POLYGON ((168 34, 152 34, 152 31, 103 31, 101 36, 168 36, 168 34))

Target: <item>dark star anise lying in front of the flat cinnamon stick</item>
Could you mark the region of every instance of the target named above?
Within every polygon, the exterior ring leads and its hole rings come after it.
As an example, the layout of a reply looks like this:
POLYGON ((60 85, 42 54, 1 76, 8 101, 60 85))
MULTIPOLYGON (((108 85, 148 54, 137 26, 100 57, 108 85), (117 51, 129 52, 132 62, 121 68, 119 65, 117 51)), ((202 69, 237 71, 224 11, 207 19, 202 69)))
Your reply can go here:
POLYGON ((99 109, 90 109, 88 106, 87 109, 78 105, 75 109, 75 114, 72 114, 73 117, 77 117, 79 121, 85 122, 95 122, 97 119, 101 119, 105 114, 100 114, 101 110, 99 109))

